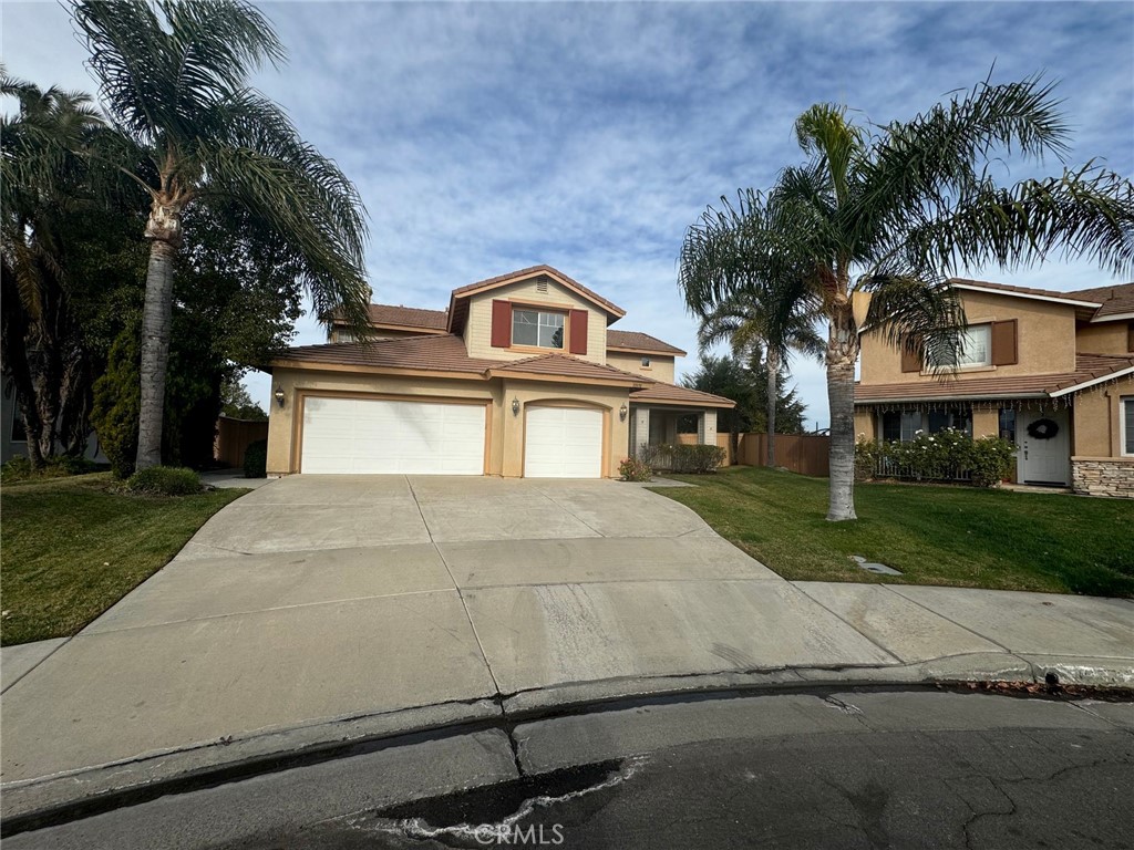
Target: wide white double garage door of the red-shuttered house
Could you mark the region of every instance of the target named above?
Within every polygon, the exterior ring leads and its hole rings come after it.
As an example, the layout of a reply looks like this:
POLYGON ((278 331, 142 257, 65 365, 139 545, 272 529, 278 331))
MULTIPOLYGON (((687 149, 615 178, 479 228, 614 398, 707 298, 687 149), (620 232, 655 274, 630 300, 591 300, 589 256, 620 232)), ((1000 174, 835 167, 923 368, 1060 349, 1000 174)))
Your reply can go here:
POLYGON ((304 473, 483 475, 484 407, 307 398, 304 473))

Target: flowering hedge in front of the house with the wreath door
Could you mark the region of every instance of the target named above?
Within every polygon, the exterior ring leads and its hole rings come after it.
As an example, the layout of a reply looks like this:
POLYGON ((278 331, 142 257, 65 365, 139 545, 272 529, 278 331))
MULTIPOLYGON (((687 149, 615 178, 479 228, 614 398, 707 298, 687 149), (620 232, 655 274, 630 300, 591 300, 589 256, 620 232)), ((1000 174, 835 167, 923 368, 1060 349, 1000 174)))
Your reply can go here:
POLYGON ((936 434, 917 431, 907 442, 860 440, 855 471, 860 479, 968 479, 978 487, 995 487, 1008 475, 1015 453, 1016 445, 998 436, 973 440, 953 428, 936 434))

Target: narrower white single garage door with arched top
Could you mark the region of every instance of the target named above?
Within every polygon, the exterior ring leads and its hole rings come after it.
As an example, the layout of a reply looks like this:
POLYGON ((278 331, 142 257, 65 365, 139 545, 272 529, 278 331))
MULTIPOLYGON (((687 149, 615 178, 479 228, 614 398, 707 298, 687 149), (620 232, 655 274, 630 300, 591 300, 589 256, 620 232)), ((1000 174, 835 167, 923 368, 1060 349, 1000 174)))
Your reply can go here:
POLYGON ((573 407, 528 408, 524 476, 602 477, 602 413, 573 407))

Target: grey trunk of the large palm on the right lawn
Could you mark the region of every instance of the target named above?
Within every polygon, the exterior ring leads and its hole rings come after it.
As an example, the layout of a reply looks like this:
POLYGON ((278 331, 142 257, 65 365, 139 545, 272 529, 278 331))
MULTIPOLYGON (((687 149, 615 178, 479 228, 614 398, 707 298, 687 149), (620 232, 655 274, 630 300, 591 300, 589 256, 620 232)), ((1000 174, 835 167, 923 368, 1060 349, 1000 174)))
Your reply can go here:
POLYGON ((836 305, 827 345, 827 402, 831 414, 830 501, 827 519, 857 519, 854 511, 854 364, 858 355, 850 305, 836 305))

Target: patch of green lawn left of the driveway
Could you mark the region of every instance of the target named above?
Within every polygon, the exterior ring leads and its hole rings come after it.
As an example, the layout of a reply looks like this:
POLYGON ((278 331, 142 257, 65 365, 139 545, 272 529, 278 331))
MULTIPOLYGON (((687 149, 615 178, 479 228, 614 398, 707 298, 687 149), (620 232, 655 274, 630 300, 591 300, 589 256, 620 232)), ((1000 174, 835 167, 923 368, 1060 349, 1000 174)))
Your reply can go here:
POLYGON ((111 485, 102 473, 0 490, 0 643, 74 635, 247 492, 136 496, 111 485))

